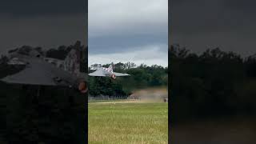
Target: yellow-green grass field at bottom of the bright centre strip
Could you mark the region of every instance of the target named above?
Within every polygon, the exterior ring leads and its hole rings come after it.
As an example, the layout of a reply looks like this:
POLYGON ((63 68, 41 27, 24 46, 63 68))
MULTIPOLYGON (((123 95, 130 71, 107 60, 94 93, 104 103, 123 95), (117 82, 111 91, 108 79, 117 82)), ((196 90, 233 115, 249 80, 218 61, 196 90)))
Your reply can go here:
POLYGON ((168 104, 90 102, 89 140, 94 143, 168 143, 168 104))

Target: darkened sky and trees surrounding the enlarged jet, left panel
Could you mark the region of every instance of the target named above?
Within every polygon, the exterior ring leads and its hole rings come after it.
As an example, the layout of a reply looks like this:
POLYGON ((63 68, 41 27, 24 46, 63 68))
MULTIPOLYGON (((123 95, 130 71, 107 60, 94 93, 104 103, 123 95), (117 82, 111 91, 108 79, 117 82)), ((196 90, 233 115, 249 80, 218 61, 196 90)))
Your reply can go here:
MULTIPOLYGON (((83 0, 1 2, 0 78, 24 68, 6 65, 10 50, 37 50, 61 60, 72 48, 87 50, 87 9, 83 0)), ((86 142, 85 95, 45 86, 37 98, 38 86, 0 87, 0 143, 86 142)))

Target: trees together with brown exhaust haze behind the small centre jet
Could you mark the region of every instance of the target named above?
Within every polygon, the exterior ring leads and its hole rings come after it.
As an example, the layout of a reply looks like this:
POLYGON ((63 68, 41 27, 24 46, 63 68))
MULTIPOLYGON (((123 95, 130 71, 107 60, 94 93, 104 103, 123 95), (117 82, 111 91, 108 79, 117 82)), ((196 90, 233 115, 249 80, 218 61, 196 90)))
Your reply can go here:
MULTIPOLYGON (((114 71, 130 74, 129 77, 89 77, 89 101, 114 99, 167 98, 168 68, 158 65, 137 66, 134 62, 118 62, 102 65, 114 66, 114 71)), ((94 70, 90 70, 89 73, 94 70)))

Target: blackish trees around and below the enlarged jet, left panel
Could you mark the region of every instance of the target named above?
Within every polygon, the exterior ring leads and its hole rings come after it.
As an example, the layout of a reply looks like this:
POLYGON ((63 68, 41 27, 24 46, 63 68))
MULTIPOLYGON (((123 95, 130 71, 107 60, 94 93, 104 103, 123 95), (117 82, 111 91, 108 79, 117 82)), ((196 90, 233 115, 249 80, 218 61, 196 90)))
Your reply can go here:
MULTIPOLYGON (((26 54, 26 51, 34 49, 46 57, 64 59, 71 49, 78 46, 83 47, 81 42, 76 42, 74 45, 47 50, 33 46, 21 46, 14 50, 24 50, 21 52, 26 54)), ((6 56, 0 58, 0 78, 25 68, 7 65, 7 61, 6 56)), ((0 82, 0 87, 0 126, 3 128, 0 130, 1 142, 86 142, 85 95, 61 86, 43 86, 40 97, 37 97, 38 86, 7 85, 0 82), (74 99, 70 96, 74 96, 74 99)))

